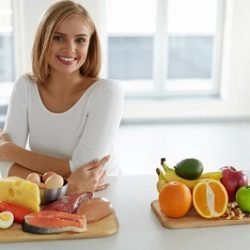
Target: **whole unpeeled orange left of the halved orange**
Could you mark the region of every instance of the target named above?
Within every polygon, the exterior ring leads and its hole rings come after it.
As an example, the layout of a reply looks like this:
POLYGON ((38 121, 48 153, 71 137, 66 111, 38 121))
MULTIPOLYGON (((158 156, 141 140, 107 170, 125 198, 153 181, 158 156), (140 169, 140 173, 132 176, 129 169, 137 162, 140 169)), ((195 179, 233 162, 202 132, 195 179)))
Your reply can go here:
POLYGON ((184 216, 192 203, 190 189, 177 181, 168 182, 159 193, 159 206, 161 211, 168 217, 184 216))

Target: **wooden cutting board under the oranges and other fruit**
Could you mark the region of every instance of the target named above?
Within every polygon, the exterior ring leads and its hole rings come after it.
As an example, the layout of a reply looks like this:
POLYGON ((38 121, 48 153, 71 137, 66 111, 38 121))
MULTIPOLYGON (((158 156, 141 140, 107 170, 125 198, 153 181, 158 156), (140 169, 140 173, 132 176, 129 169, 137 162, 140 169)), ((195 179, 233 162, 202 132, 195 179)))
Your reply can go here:
POLYGON ((151 203, 151 207, 164 227, 177 229, 177 228, 195 228, 195 227, 212 227, 212 226, 226 226, 226 225, 240 225, 250 224, 250 217, 243 217, 242 219, 205 219, 199 216, 194 210, 181 218, 169 218, 165 216, 159 207, 158 200, 151 203))

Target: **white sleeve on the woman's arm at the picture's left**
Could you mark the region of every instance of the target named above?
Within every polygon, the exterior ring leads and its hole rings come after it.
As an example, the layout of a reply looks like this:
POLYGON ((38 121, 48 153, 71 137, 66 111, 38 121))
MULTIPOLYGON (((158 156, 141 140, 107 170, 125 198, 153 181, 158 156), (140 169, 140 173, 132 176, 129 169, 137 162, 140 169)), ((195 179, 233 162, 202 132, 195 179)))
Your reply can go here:
MULTIPOLYGON (((24 77, 19 78, 13 87, 10 103, 8 105, 4 132, 6 132, 12 142, 20 147, 25 147, 28 136, 27 102, 28 93, 25 88, 24 77)), ((2 177, 8 176, 12 162, 0 162, 2 177)))

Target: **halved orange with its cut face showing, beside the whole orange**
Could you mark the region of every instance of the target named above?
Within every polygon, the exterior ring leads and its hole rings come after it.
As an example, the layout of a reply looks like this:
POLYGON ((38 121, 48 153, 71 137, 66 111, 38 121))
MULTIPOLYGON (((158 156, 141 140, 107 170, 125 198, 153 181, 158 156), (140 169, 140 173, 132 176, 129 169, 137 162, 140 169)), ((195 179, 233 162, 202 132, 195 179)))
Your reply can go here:
POLYGON ((193 189, 193 205, 204 218, 217 218, 226 212, 228 194, 223 184, 214 179, 198 182, 193 189))

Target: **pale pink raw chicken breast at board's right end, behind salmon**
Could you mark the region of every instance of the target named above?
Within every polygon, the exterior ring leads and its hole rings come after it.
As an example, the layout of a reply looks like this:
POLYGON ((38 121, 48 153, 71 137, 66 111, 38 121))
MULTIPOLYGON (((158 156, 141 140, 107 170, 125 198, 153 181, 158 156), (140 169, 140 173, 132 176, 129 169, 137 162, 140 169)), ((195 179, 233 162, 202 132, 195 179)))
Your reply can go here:
POLYGON ((110 215, 113 211, 112 204, 108 200, 100 197, 81 202, 76 213, 85 215, 87 223, 92 223, 110 215))

